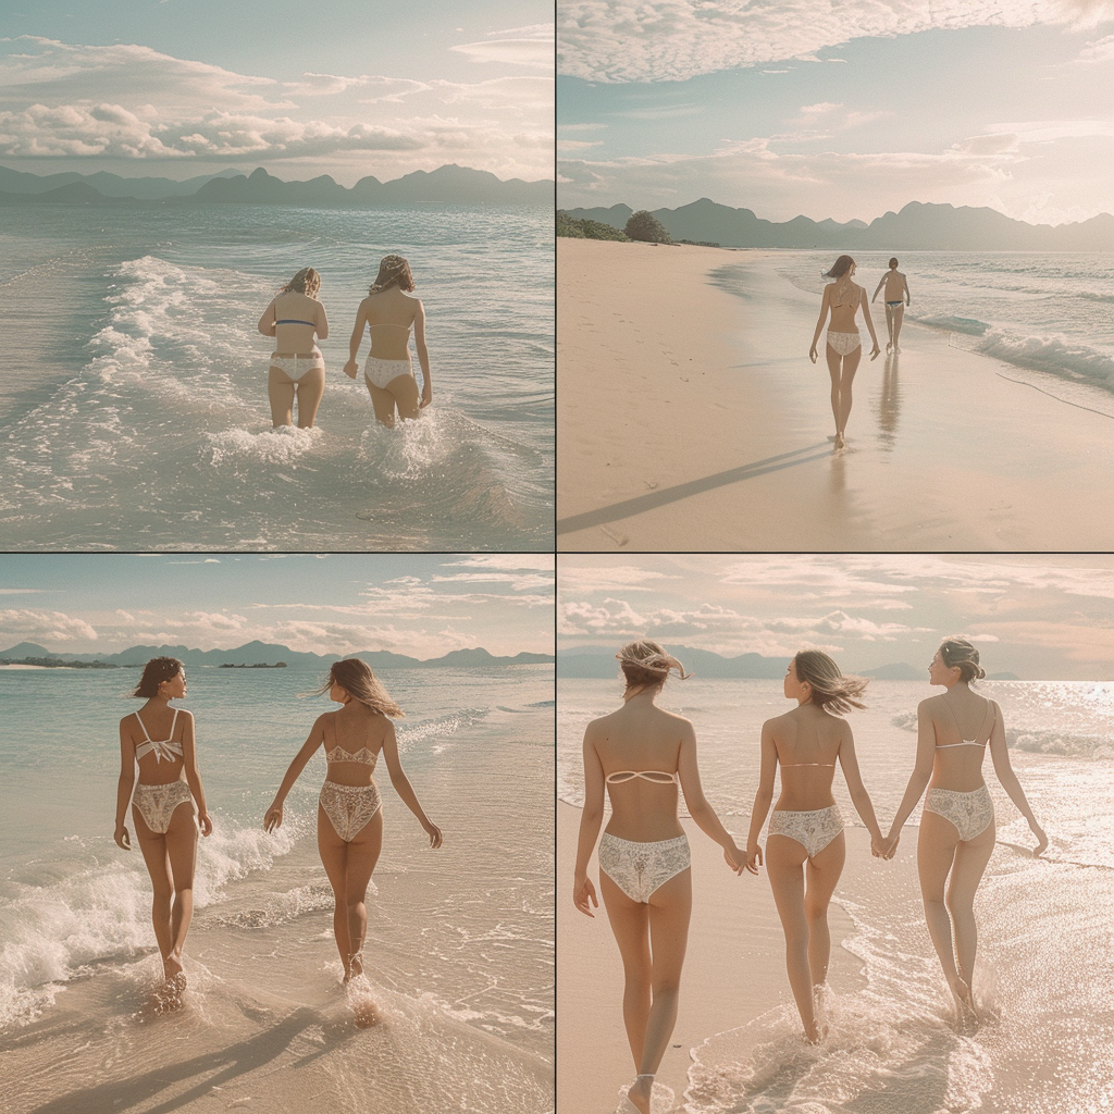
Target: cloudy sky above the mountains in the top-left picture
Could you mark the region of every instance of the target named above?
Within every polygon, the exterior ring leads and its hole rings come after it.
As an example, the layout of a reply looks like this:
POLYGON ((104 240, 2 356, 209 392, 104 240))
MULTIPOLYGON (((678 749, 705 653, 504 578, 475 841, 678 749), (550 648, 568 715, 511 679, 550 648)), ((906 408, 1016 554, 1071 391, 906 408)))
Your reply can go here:
POLYGON ((6 0, 0 164, 553 178, 549 0, 6 0))

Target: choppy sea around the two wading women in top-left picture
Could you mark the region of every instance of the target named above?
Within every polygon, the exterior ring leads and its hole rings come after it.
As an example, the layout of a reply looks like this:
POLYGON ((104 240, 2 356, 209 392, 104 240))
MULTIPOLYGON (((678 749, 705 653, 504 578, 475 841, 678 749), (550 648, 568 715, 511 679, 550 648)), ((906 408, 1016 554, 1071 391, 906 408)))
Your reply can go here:
POLYGON ((6 213, 3 548, 551 548, 551 213, 6 213), (433 405, 395 430, 341 371, 388 252, 411 262, 433 378, 433 405), (255 325, 305 265, 329 315, 325 394, 315 429, 275 431, 255 325))

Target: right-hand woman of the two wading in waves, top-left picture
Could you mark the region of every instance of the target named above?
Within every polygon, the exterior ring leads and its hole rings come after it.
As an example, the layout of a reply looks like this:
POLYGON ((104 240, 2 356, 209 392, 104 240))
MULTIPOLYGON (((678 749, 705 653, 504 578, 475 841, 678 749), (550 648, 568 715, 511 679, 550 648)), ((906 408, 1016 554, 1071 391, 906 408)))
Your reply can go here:
POLYGON ((371 334, 371 352, 363 365, 363 379, 371 393, 375 418, 383 426, 394 424, 395 410, 400 418, 417 418, 419 411, 433 401, 429 351, 426 348, 426 309, 420 299, 410 296, 409 292, 413 289, 410 264, 401 255, 384 255, 379 264, 379 276, 360 303, 349 341, 349 362, 344 364, 344 374, 355 379, 359 370, 355 358, 367 324, 371 334), (421 364, 421 399, 418 398, 418 383, 410 365, 411 329, 421 364))

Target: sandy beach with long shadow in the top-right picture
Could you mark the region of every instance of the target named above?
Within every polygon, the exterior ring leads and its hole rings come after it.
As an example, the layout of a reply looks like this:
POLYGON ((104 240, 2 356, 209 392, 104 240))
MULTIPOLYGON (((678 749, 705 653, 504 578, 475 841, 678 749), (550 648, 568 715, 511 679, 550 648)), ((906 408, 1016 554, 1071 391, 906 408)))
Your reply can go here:
MULTIPOLYGON (((817 299, 717 285, 776 253, 557 254, 559 550, 1108 548, 1092 497, 1114 467, 1106 414, 907 321, 900 355, 860 364, 833 453, 827 367, 807 354, 817 299)), ((873 319, 885 349, 880 303, 873 319)))

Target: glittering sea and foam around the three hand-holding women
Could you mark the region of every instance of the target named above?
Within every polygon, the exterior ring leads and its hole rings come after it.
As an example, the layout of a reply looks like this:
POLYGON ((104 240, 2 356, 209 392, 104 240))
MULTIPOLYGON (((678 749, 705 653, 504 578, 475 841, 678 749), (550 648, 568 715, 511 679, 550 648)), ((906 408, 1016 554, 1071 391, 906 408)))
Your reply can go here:
MULTIPOLYGON (((570 804, 583 802, 584 726, 616 706, 618 691, 617 681, 559 682, 558 797, 570 804)), ((1111 1108, 1114 684, 985 682, 980 691, 1001 705, 1010 762, 1051 840, 1042 859, 1027 853, 1028 824, 988 758, 998 839, 975 907, 983 1025, 958 1028, 945 998, 915 870, 919 807, 901 840, 901 869, 880 867, 837 772, 836 799, 852 830, 834 901, 853 921, 843 947, 862 965, 866 985, 829 997, 831 1032, 815 1049, 801 1043, 791 1004, 707 1033, 690 1049, 686 1114, 1111 1108)), ((849 717, 883 828, 912 769, 917 703, 932 692, 919 682, 874 681, 869 709, 849 717)), ((745 838, 761 724, 790 706, 780 684, 693 677, 671 683, 662 703, 692 719, 709 800, 745 838)))

